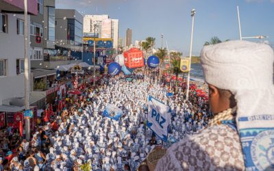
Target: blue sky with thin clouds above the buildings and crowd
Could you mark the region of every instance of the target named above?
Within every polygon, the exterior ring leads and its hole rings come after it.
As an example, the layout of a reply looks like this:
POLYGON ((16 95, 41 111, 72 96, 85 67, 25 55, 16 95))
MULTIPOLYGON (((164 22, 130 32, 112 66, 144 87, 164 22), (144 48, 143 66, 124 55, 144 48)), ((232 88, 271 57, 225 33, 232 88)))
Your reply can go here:
MULTIPOLYGON (((196 9, 193 54, 212 36, 221 40, 239 39, 236 6, 240 8, 242 36, 265 35, 274 43, 274 0, 55 0, 55 8, 76 9, 82 14, 109 14, 119 19, 119 37, 132 29, 132 43, 148 36, 156 47, 168 41, 170 50, 188 55, 190 11, 196 9)), ((258 40, 252 40, 258 41, 258 40)))

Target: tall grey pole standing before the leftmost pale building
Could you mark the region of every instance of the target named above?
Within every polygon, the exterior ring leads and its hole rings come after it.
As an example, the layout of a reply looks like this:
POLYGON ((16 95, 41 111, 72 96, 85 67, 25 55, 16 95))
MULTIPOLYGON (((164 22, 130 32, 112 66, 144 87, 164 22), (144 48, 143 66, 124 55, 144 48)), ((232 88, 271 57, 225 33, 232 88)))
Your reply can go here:
MULTIPOLYGON (((24 0, 24 58, 25 58, 25 111, 29 109, 29 57, 27 54, 29 43, 27 42, 28 25, 27 25, 27 0, 24 0)), ((30 139, 29 117, 25 118, 26 139, 30 139)))

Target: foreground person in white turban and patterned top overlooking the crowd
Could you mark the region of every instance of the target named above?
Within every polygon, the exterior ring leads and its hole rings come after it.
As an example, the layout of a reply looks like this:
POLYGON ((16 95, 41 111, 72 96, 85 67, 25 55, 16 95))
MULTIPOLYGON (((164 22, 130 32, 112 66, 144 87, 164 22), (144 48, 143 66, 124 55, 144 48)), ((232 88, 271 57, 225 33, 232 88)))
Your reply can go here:
POLYGON ((273 61, 266 44, 236 40, 203 47, 214 118, 169 148, 155 170, 272 170, 273 61))

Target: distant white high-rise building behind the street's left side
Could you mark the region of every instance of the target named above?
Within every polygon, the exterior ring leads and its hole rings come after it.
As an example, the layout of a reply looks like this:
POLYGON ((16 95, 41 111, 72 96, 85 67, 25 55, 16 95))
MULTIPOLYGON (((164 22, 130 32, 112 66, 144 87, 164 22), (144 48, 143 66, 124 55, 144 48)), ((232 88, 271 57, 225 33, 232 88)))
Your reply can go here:
POLYGON ((119 20, 112 19, 108 15, 85 15, 83 24, 84 34, 98 34, 98 38, 112 38, 113 48, 118 49, 119 44, 119 20), (94 25, 96 28, 94 30, 94 25))

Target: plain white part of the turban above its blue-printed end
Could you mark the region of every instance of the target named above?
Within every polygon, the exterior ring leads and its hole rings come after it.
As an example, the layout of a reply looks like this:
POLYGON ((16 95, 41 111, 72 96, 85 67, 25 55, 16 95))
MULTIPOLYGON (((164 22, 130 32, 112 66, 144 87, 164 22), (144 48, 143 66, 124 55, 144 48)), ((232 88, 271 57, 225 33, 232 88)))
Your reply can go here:
MULTIPOLYGON (((273 61, 273 49, 255 42, 234 40, 208 45, 201 51, 206 82, 234 94, 237 122, 243 116, 273 114, 273 61)), ((267 123, 255 124, 264 127, 267 123)))

